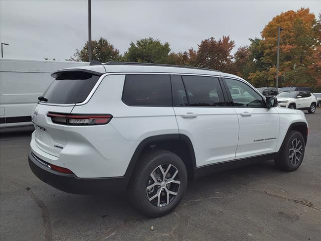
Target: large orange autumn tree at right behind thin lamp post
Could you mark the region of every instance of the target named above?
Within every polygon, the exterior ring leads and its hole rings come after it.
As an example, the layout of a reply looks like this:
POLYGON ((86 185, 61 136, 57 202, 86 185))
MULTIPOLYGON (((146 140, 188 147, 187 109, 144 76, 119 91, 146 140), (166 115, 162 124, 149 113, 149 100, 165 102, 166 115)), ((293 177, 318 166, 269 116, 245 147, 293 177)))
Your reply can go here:
POLYGON ((319 27, 314 14, 304 8, 282 13, 265 26, 262 39, 255 46, 260 55, 256 61, 261 66, 249 73, 248 79, 256 87, 275 86, 278 27, 283 29, 280 34, 280 85, 321 87, 315 73, 318 61, 314 59, 318 57, 315 52, 320 46, 321 35, 316 30, 319 27), (312 64, 313 67, 309 67, 312 64))

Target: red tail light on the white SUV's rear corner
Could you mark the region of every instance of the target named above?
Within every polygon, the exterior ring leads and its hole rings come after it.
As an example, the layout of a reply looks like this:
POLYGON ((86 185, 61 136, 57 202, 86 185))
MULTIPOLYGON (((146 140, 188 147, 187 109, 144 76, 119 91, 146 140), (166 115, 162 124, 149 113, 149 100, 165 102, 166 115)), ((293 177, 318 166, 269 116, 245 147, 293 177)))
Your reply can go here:
POLYGON ((49 112, 47 116, 51 117, 51 121, 55 124, 69 126, 105 125, 112 118, 111 114, 63 114, 52 112, 49 112))

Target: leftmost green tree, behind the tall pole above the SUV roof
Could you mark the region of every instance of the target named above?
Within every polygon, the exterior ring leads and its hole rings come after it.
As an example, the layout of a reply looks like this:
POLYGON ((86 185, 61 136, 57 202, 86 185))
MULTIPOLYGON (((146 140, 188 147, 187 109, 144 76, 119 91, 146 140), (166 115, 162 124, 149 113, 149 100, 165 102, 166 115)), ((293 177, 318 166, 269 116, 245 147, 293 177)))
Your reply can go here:
MULTIPOLYGON (((98 40, 91 41, 92 60, 100 61, 105 63, 108 61, 119 61, 122 56, 119 54, 119 50, 115 49, 107 39, 100 38, 98 40)), ((76 49, 76 53, 73 57, 66 59, 68 61, 88 61, 88 41, 82 50, 76 49)))

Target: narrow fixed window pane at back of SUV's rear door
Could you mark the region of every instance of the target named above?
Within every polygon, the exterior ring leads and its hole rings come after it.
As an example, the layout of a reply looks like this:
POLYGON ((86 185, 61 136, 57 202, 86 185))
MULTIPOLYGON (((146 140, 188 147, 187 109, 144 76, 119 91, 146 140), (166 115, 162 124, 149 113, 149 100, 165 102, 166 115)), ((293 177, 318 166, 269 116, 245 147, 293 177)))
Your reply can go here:
POLYGON ((172 75, 173 106, 188 105, 187 96, 181 75, 172 75))

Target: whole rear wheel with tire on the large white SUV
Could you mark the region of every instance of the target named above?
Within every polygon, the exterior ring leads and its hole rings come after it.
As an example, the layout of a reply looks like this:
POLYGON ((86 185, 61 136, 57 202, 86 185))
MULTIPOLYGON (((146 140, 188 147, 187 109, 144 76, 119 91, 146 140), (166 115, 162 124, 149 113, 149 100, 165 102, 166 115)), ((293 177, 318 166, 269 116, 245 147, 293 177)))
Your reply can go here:
POLYGON ((142 156, 133 173, 130 200, 147 216, 163 216, 180 203, 187 180, 186 166, 178 155, 165 150, 151 151, 142 156))

